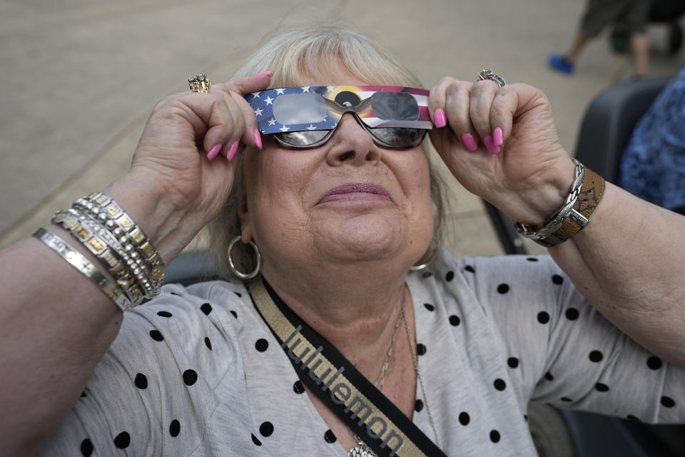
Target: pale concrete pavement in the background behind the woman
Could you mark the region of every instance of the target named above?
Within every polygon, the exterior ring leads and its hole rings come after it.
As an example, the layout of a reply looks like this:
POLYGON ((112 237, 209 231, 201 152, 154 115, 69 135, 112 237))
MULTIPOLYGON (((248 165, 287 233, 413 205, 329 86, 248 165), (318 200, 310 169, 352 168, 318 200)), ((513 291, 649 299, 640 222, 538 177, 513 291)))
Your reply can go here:
MULTIPOLYGON (((589 101, 629 74, 607 39, 589 45, 571 78, 547 56, 567 46, 584 2, 64 0, 0 4, 0 247, 48 224, 56 209, 126 172, 156 100, 191 74, 228 79, 263 36, 306 23, 348 24, 380 43, 430 87, 494 68, 543 89, 559 136, 575 147, 589 101)), ((651 26, 654 76, 672 75, 664 28, 651 26)), ((267 70, 267 69, 265 69, 267 70)), ((457 184, 450 199, 457 254, 501 253, 480 201, 457 184)), ((536 250, 536 251, 539 251, 536 250)))

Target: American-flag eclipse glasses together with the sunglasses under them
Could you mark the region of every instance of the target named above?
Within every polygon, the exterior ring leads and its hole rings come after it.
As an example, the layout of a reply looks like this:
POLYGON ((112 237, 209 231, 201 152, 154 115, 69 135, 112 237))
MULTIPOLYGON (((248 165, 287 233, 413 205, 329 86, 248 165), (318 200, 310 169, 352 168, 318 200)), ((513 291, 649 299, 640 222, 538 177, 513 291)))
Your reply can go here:
POLYGON ((268 89, 245 96, 259 131, 279 146, 309 149, 333 136, 342 115, 355 116, 378 146, 409 149, 433 124, 428 91, 400 86, 305 86, 268 89))

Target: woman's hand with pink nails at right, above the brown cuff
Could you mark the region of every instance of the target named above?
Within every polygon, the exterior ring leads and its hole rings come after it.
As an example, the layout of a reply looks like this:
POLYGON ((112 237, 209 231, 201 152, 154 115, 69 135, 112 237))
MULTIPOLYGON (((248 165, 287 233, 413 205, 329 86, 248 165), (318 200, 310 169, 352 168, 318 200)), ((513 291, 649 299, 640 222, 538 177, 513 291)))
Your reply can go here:
POLYGON ((434 124, 444 126, 430 131, 432 144, 468 191, 527 224, 563 206, 575 166, 542 91, 445 77, 428 99, 434 124))

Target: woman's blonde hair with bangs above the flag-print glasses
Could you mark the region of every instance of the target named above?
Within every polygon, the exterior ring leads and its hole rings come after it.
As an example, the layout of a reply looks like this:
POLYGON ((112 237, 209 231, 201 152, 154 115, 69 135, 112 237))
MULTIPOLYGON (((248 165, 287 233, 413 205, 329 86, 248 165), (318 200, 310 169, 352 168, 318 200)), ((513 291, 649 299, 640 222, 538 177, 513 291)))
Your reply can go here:
MULTIPOLYGON (((346 68, 350 74, 369 85, 421 87, 417 77, 392 59, 374 41, 356 31, 339 26, 316 26, 287 31, 274 36, 245 61, 233 77, 250 76, 261 71, 273 71, 270 88, 301 86, 305 79, 324 80, 326 69, 346 68)), ((328 74, 330 76, 330 73, 328 74)), ((209 225, 210 251, 222 276, 233 276, 228 263, 228 244, 239 236, 238 204, 243 200, 243 164, 233 181, 233 190, 219 216, 209 225)), ((431 199, 435 229, 431 247, 420 263, 435 256, 442 240, 444 184, 435 171, 430 170, 431 199)), ((248 273, 255 268, 255 254, 250 246, 236 243, 233 263, 239 271, 248 273)))

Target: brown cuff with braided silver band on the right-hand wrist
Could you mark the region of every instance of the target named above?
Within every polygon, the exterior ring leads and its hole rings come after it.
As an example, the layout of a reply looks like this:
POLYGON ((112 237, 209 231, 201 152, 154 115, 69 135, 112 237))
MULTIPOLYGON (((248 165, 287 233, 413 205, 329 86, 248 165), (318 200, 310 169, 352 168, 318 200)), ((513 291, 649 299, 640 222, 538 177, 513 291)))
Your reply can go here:
POLYGON ((585 168, 576 159, 572 160, 576 164, 576 175, 562 209, 544 224, 537 226, 514 222, 514 227, 521 236, 531 238, 546 248, 557 246, 584 229, 604 194, 604 178, 585 168))

